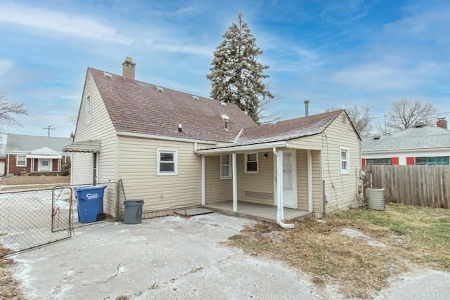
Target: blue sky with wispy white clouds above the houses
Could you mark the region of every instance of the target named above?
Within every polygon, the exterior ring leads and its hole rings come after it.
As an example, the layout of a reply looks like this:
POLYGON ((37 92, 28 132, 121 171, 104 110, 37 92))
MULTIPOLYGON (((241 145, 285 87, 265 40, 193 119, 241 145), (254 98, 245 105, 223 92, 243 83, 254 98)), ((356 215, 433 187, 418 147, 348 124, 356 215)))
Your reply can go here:
POLYGON ((450 118, 449 1, 2 1, 0 90, 30 115, 9 133, 68 137, 87 67, 210 96, 222 34, 240 8, 270 65, 283 119, 329 107, 374 105, 376 125, 395 100, 429 100, 450 118), (381 117, 381 118, 380 118, 381 117))

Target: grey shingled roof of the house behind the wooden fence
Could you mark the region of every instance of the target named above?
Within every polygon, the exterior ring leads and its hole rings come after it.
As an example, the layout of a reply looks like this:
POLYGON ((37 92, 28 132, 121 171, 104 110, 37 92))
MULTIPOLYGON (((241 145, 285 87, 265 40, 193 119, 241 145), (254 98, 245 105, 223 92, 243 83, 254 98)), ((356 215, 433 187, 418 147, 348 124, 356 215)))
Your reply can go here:
POLYGON ((362 152, 450 148, 450 130, 422 124, 386 136, 362 141, 362 152))

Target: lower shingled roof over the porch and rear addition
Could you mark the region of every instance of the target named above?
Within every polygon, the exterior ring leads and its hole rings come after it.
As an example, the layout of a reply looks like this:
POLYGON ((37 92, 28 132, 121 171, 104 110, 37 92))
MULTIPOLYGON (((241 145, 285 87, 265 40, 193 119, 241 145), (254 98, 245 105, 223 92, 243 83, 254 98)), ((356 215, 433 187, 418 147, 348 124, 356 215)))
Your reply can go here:
POLYGON ((236 141, 226 145, 217 145, 205 149, 218 149, 236 147, 241 145, 255 145, 262 143, 272 143, 278 141, 288 141, 294 138, 314 136, 322 133, 336 119, 343 110, 324 112, 319 115, 288 119, 276 124, 264 124, 243 129, 236 141))

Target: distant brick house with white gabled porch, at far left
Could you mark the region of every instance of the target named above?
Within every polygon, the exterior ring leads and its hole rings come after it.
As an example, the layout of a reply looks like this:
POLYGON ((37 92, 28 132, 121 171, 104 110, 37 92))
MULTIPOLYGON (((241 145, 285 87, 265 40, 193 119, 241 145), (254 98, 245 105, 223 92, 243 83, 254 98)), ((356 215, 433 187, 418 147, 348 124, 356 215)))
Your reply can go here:
POLYGON ((6 174, 58 174, 65 163, 63 147, 70 138, 26 136, 8 133, 6 137, 6 174))

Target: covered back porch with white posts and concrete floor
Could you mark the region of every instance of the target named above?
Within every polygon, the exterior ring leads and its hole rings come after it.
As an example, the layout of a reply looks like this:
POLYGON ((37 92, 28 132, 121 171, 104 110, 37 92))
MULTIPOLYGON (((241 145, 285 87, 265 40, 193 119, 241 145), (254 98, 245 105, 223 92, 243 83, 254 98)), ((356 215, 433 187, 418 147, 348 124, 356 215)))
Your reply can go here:
POLYGON ((202 160, 202 207, 222 214, 284 223, 313 216, 321 205, 320 150, 286 141, 196 151, 202 160), (315 187, 315 188, 314 188, 315 187), (320 202, 320 203, 319 203, 320 202))

